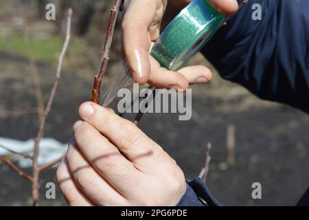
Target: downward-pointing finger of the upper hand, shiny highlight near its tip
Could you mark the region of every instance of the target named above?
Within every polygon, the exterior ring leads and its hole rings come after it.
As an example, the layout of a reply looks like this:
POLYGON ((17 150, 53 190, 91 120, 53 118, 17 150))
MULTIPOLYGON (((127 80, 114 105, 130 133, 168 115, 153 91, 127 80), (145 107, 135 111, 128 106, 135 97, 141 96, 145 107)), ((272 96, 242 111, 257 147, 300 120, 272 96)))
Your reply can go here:
POLYGON ((131 1, 122 21, 123 50, 135 82, 144 84, 150 75, 148 51, 159 38, 165 3, 153 0, 131 1), (147 7, 145 7, 147 5, 147 7))

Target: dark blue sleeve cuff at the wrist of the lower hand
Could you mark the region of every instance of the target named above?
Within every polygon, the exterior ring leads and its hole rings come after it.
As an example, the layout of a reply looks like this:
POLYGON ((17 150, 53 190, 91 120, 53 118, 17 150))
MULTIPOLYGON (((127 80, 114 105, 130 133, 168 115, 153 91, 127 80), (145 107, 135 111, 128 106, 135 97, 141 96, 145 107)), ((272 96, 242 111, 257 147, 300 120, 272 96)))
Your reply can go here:
POLYGON ((177 206, 221 206, 201 178, 187 180, 187 190, 177 206))

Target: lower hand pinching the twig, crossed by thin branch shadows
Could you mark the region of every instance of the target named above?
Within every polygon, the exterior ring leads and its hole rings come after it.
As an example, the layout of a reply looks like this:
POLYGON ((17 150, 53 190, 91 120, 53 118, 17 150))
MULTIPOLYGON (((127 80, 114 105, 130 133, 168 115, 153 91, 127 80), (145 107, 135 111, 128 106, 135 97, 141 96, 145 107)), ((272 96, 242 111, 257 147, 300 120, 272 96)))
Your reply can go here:
POLYGON ((175 206, 186 190, 183 172, 132 122, 86 102, 73 125, 75 142, 57 170, 71 206, 175 206))

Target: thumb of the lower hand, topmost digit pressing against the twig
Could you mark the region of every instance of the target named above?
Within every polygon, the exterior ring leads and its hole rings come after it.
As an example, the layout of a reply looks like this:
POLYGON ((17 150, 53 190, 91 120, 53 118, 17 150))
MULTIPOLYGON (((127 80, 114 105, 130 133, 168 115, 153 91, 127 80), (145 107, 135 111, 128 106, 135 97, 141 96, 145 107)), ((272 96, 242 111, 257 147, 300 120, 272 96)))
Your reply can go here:
POLYGON ((132 122, 93 102, 82 104, 79 113, 83 120, 113 142, 138 170, 151 169, 162 158, 164 152, 162 148, 132 122))

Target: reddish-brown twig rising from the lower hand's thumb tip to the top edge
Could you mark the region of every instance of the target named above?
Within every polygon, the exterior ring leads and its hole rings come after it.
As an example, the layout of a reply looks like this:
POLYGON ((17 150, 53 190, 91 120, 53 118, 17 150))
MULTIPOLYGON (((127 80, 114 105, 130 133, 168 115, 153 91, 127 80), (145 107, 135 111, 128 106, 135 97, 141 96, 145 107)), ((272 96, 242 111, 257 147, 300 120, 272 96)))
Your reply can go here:
POLYGON ((109 19, 108 30, 106 33, 106 39, 103 48, 103 54, 100 62, 100 69, 98 74, 94 78, 93 89, 91 92, 91 101, 96 104, 99 103, 100 99, 100 89, 102 85, 103 76, 106 72, 106 67, 108 65, 109 53, 111 51, 111 43, 113 41, 113 34, 115 30, 115 24, 117 21, 117 16, 119 13, 120 5, 122 0, 115 0, 113 8, 111 9, 111 17, 109 19))

